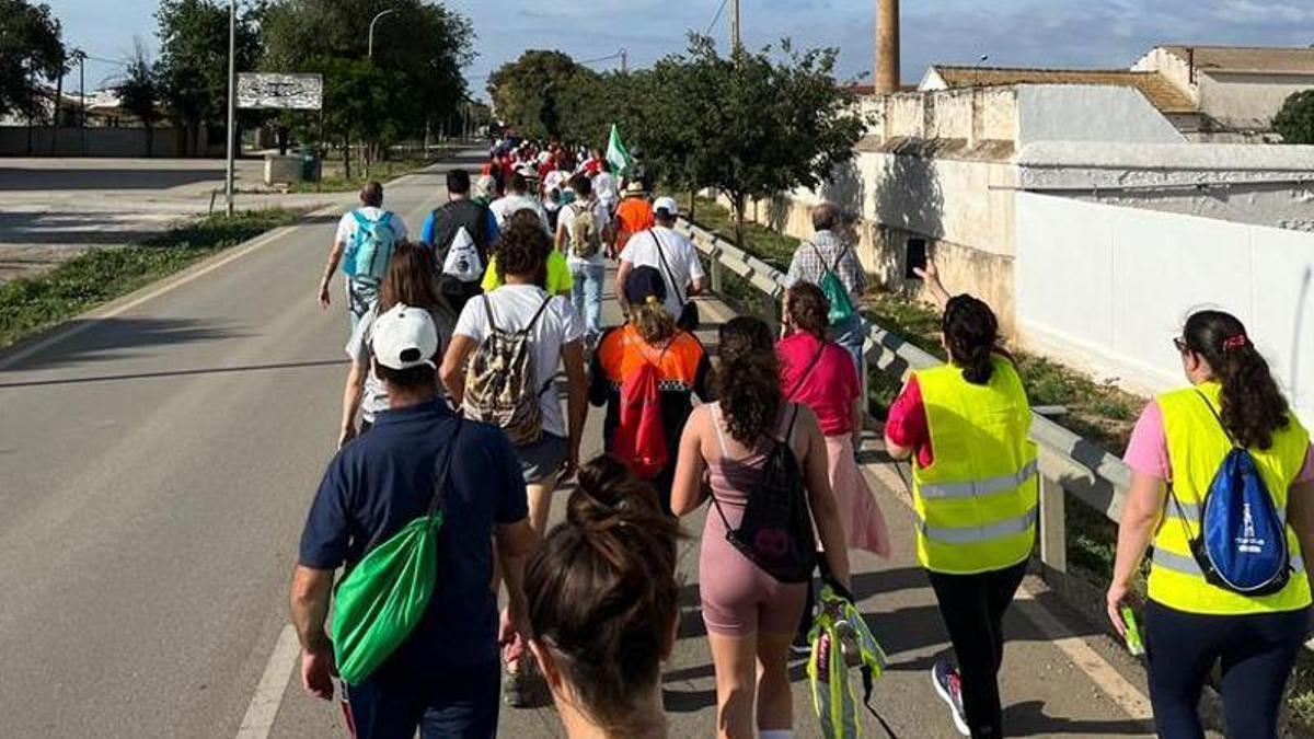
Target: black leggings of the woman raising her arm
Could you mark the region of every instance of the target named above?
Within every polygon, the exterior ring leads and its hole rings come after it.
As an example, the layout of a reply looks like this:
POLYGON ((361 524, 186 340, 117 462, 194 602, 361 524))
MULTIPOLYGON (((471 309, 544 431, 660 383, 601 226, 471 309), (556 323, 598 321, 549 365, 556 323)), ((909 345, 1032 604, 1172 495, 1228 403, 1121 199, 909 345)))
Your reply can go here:
POLYGON ((999 668, 1004 663, 1004 611, 1026 576, 1026 561, 979 575, 926 575, 958 660, 967 726, 974 739, 1003 736, 999 668))

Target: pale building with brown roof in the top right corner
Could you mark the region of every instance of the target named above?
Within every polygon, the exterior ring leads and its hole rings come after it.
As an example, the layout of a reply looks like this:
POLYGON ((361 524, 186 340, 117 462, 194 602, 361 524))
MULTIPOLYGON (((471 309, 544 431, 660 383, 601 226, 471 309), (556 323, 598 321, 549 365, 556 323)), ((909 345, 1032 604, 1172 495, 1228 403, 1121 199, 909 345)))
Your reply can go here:
POLYGON ((1131 67, 1172 82, 1194 105, 1201 138, 1271 138, 1293 92, 1314 89, 1314 49, 1158 46, 1131 67))

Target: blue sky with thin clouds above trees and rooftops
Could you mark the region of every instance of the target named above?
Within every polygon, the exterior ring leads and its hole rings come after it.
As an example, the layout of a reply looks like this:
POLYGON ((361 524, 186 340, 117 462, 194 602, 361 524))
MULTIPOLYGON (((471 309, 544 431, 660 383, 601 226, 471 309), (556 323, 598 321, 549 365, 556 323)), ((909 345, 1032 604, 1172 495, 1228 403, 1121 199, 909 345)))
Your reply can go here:
MULTIPOLYGON (((97 59, 87 87, 112 83, 114 60, 135 38, 155 47, 156 0, 45 0, 64 39, 97 59)), ((629 53, 632 67, 685 49, 690 30, 728 43, 721 0, 448 0, 478 34, 466 70, 484 96, 487 74, 526 49, 557 49, 576 59, 629 53)), ((788 37, 795 46, 837 46, 837 76, 871 71, 875 0, 741 0, 744 41, 752 47, 788 37)), ((385 24, 380 21, 380 38, 385 24)), ((916 84, 932 63, 1120 67, 1159 43, 1309 46, 1309 0, 904 0, 903 79, 916 84)), ((591 64, 619 67, 619 59, 591 64)), ((289 70, 294 71, 294 70, 289 70)), ((72 76, 67 85, 78 88, 72 76)))

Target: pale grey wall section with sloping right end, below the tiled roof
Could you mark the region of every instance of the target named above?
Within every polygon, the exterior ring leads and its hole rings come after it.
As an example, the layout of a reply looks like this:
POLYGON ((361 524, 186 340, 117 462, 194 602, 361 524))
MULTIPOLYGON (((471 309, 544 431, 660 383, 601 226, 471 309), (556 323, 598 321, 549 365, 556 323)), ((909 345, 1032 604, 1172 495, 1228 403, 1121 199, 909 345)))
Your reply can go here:
POLYGON ((1141 91, 1127 87, 1018 85, 1017 121, 1020 146, 1037 141, 1185 142, 1141 91))

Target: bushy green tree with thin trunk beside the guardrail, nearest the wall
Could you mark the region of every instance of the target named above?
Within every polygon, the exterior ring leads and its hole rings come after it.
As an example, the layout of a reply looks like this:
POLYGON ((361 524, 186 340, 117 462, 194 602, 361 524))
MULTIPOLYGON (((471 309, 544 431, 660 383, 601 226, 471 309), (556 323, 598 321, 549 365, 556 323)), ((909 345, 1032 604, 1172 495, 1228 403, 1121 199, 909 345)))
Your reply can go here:
POLYGON ((750 199, 795 187, 817 187, 853 158, 863 121, 834 80, 837 50, 717 54, 694 36, 687 55, 657 64, 653 107, 637 141, 645 162, 666 174, 714 187, 735 210, 742 243, 750 199), (777 60, 778 59, 778 60, 777 60))

